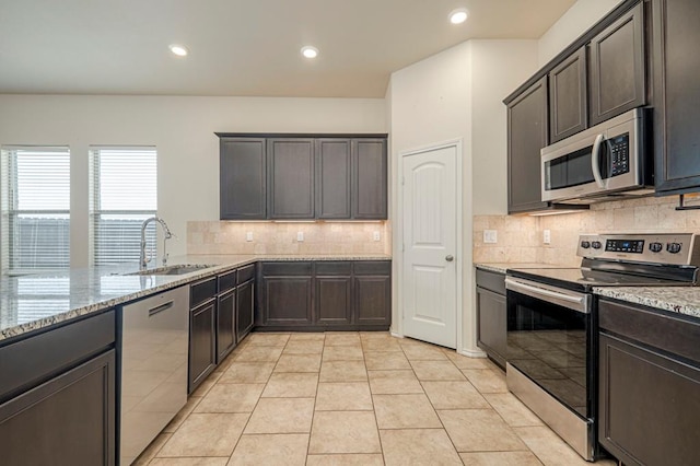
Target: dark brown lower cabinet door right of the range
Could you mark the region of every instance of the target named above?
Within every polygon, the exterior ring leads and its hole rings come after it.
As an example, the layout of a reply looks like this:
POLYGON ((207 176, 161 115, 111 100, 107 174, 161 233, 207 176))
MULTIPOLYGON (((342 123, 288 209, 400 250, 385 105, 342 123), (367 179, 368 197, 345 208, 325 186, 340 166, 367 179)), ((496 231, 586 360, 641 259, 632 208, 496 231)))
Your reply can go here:
POLYGON ((627 465, 697 465, 700 369, 600 334, 598 440, 627 465))

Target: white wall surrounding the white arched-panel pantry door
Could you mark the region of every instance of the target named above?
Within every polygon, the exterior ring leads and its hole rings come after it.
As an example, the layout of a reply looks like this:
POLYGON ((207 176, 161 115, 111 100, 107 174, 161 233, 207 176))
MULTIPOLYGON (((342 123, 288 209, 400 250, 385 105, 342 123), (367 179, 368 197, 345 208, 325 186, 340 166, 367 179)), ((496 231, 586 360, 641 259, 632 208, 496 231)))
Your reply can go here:
MULTIPOLYGON (((502 100, 535 72, 536 66, 536 40, 470 40, 392 74, 387 95, 395 186, 399 153, 447 140, 463 141, 464 248, 458 259, 464 288, 462 346, 457 348, 460 352, 479 352, 474 313, 471 219, 475 212, 502 213, 506 209, 508 135, 502 100)), ((392 210, 394 256, 399 257, 398 199, 394 199, 392 210)), ((393 322, 399 318, 396 311, 393 322)))

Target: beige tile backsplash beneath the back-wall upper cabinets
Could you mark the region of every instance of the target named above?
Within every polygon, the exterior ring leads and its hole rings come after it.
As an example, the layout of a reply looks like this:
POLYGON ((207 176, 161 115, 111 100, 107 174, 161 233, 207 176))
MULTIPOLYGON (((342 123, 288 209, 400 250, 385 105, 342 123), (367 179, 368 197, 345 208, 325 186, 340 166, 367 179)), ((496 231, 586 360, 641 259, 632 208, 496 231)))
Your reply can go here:
POLYGON ((390 254, 390 237, 388 221, 194 221, 187 222, 187 254, 390 254))

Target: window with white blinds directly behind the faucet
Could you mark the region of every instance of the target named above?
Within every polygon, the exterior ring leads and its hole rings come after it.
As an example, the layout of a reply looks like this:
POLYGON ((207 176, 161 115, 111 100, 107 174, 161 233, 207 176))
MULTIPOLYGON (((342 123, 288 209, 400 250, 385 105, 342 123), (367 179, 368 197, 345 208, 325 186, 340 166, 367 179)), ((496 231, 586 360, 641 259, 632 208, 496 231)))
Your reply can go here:
MULTIPOLYGON (((155 215, 155 148, 91 148, 92 263, 138 263, 141 224, 155 215)), ((147 230, 155 248, 155 224, 147 230)))

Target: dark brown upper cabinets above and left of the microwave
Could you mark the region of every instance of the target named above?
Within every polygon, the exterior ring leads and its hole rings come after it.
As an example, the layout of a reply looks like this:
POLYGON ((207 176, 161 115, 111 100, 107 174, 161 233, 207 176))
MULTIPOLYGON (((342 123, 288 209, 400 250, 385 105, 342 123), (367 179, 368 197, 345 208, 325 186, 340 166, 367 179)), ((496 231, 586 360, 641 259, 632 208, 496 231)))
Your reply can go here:
POLYGON ((648 104, 648 7, 620 3, 505 98, 509 213, 555 206, 541 197, 542 148, 648 104))

